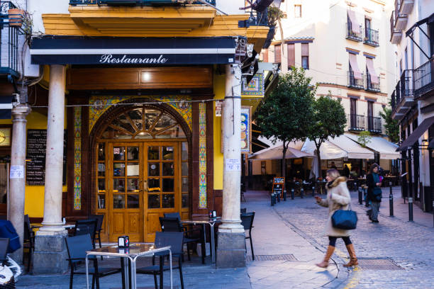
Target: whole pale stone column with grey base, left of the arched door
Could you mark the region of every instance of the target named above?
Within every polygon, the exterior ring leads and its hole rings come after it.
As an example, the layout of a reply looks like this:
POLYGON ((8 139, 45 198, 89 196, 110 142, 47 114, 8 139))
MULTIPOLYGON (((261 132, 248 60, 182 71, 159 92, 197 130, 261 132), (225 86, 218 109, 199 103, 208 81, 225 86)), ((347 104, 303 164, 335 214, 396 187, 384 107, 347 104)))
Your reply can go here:
POLYGON ((35 237, 33 273, 64 273, 67 251, 62 227, 63 130, 65 125, 65 66, 50 66, 43 227, 35 237))

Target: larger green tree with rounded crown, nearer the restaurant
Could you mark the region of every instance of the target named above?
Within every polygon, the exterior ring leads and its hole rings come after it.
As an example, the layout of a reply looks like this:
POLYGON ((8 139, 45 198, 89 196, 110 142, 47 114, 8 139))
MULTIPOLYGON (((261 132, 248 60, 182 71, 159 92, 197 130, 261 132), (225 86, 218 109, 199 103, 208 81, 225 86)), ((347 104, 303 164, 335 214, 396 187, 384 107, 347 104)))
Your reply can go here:
POLYGON ((273 144, 283 142, 282 176, 286 176, 286 150, 289 142, 306 139, 306 130, 313 118, 312 103, 316 86, 306 77, 304 69, 293 68, 279 76, 272 93, 262 100, 255 113, 255 122, 262 135, 273 144))

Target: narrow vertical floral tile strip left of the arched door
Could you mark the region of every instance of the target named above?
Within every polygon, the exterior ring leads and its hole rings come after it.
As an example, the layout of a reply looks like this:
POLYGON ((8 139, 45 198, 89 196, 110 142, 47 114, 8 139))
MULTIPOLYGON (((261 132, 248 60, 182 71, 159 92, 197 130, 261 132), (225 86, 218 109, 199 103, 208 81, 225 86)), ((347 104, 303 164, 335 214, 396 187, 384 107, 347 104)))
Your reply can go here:
POLYGON ((82 210, 82 108, 74 107, 74 210, 82 210))

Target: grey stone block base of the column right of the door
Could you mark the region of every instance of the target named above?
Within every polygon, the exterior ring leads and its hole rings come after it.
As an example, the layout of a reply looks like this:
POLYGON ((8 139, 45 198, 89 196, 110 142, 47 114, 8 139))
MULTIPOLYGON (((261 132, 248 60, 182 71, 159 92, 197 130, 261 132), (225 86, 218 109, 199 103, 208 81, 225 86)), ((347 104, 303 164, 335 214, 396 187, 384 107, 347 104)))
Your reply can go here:
POLYGON ((245 233, 218 232, 216 267, 245 267, 245 233))

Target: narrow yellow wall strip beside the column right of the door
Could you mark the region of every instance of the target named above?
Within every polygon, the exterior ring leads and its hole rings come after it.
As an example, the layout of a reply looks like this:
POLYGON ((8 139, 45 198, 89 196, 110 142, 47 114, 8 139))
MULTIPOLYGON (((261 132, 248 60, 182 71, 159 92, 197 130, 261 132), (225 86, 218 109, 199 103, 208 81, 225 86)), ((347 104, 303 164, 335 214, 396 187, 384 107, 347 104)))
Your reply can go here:
MULTIPOLYGON (((225 98, 226 75, 214 74, 214 98, 225 98)), ((214 102, 214 190, 223 190, 223 154, 221 153, 221 117, 216 116, 214 102)))

